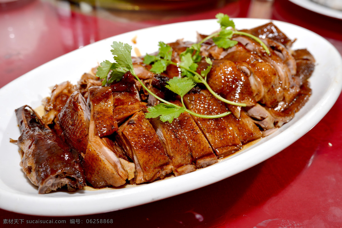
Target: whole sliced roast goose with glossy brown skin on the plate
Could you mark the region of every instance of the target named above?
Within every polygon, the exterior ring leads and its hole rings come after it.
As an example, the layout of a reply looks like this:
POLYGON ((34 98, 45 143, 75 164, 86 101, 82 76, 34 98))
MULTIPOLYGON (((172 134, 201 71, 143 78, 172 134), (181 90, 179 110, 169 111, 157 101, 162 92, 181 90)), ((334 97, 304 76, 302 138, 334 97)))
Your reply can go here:
MULTIPOLYGON (((259 37, 270 54, 239 35, 232 37, 238 44, 231 48, 218 48, 208 39, 200 52, 212 61, 207 82, 213 91, 246 107, 227 105, 198 83, 184 96, 187 109, 203 115, 232 114, 205 119, 183 112, 171 123, 146 119, 147 108, 159 100, 129 71, 121 81, 105 86, 93 73, 85 73, 77 85, 55 86, 42 118, 28 106, 16 110, 25 174, 39 193, 65 185, 75 190, 86 183, 94 188, 149 183, 212 165, 276 131, 310 97, 307 79, 315 59, 305 49, 291 50, 294 41, 273 23, 244 31, 259 37)), ((172 61, 179 61, 191 44, 169 43, 172 61)), ((165 88, 171 78, 181 76, 179 68, 170 65, 156 74, 143 59, 133 59, 137 76, 150 91, 180 105, 179 96, 165 88)), ((203 58, 198 70, 206 65, 203 58)))

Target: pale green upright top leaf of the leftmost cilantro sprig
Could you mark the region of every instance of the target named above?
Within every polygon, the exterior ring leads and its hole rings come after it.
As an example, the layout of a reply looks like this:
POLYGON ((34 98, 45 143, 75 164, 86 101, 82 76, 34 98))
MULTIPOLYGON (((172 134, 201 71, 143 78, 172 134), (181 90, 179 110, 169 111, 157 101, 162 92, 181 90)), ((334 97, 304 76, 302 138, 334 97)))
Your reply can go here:
POLYGON ((132 57, 131 57, 132 46, 127 43, 123 44, 121 42, 114 41, 111 47, 113 49, 110 51, 114 55, 114 60, 121 67, 126 67, 128 70, 131 70, 134 72, 132 57))

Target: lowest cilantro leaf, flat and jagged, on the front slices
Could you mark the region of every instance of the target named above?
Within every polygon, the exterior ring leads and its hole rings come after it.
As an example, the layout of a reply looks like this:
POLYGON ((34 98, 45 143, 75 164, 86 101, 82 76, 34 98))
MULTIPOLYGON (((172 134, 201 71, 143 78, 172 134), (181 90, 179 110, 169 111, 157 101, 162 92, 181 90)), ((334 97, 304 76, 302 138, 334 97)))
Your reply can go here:
POLYGON ((173 119, 178 118, 181 113, 185 112, 184 107, 177 108, 174 105, 160 103, 156 106, 149 107, 149 112, 145 113, 145 118, 157 118, 163 122, 169 121, 171 123, 173 119))

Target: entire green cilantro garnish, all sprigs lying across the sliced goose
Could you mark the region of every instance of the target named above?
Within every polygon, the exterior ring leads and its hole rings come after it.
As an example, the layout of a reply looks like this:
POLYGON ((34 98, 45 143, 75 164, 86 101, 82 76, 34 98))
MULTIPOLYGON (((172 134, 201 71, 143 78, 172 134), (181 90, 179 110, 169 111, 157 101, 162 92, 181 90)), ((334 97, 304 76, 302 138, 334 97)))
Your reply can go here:
POLYGON ((146 54, 146 56, 144 57, 144 63, 148 65, 151 64, 152 68, 150 69, 150 71, 154 73, 164 72, 167 69, 167 66, 171 64, 181 68, 181 74, 183 78, 175 77, 170 79, 168 85, 166 85, 166 88, 181 97, 182 107, 170 103, 152 93, 136 76, 131 57, 132 46, 130 46, 129 44, 123 44, 121 42, 114 41, 113 45, 111 45, 113 49, 110 51, 114 55, 115 62, 111 63, 108 60, 102 62, 100 64, 101 66, 97 68, 96 76, 100 79, 103 79, 102 85, 106 85, 107 83, 110 84, 114 81, 120 81, 123 74, 127 71, 130 71, 148 93, 163 102, 154 107, 149 107, 147 109, 149 112, 145 113, 146 118, 160 117, 160 120, 162 120, 163 122, 169 121, 171 123, 174 118, 179 117, 179 115, 185 111, 190 113, 191 115, 201 118, 219 118, 226 116, 231 112, 225 112, 219 115, 200 115, 188 110, 184 105, 183 96, 188 93, 196 85, 196 83, 202 83, 206 86, 209 92, 219 100, 231 105, 246 106, 246 104, 236 103, 224 99, 210 88, 209 84, 207 83, 207 75, 212 67, 212 61, 210 58, 205 58, 206 62, 209 64, 209 66, 205 70, 202 70, 200 74, 196 71, 198 67, 197 63, 200 62, 202 59, 202 56, 200 55, 201 44, 206 40, 212 38, 214 43, 219 48, 230 48, 237 44, 237 41, 231 40, 231 38, 234 34, 238 34, 251 37, 252 39, 259 42, 263 46, 267 54, 269 54, 269 50, 259 38, 246 32, 236 31, 235 24, 228 15, 219 13, 216 15, 216 18, 218 19, 218 23, 221 26, 221 31, 207 36, 199 43, 192 44, 189 48, 187 48, 180 54, 180 63, 174 63, 171 61, 172 48, 171 46, 163 42, 159 42, 159 53, 157 55, 146 54), (229 27, 231 27, 232 29, 228 29, 229 27))

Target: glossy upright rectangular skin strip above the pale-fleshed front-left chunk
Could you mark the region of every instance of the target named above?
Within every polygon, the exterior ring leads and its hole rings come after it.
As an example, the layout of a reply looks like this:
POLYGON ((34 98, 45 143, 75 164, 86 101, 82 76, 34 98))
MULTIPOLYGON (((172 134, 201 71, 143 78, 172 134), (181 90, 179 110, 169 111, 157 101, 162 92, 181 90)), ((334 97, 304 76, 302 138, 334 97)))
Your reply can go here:
POLYGON ((97 86, 89 89, 93 104, 95 134, 99 137, 108 136, 118 130, 114 118, 114 99, 109 86, 97 86))

